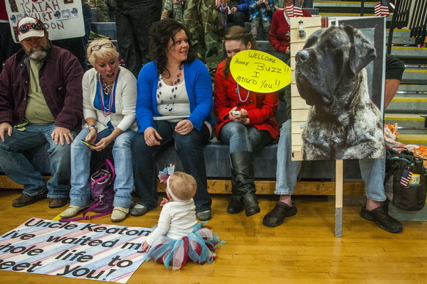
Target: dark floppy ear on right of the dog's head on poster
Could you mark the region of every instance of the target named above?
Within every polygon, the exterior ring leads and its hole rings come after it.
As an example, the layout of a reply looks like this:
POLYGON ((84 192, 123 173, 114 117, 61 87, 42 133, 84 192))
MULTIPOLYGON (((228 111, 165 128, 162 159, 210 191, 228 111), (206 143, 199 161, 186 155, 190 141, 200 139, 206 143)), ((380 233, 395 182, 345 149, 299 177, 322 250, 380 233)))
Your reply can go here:
POLYGON ((375 48, 359 30, 352 26, 344 26, 343 28, 352 42, 349 53, 349 67, 354 74, 357 74, 376 58, 375 48))

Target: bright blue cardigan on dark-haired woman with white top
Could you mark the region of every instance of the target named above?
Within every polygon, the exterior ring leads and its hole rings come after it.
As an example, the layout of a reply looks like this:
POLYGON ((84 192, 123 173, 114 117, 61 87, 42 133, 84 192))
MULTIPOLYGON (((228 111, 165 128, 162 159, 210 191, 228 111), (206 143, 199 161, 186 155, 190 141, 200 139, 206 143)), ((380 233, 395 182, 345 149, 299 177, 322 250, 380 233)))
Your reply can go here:
MULTIPOLYGON (((137 121, 139 133, 147 127, 154 127, 154 116, 162 116, 157 111, 157 84, 159 74, 155 63, 144 65, 138 76, 137 121)), ((209 119, 213 102, 212 82, 209 71, 200 60, 184 63, 184 82, 190 101, 189 121, 200 130, 204 121, 209 119)))

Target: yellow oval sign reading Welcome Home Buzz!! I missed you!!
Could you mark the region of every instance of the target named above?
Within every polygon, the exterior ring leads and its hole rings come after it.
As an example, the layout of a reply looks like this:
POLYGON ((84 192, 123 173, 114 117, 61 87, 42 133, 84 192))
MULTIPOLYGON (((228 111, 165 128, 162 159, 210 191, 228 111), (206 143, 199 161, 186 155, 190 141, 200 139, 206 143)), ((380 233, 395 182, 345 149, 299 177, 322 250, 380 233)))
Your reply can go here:
POLYGON ((253 92, 276 92, 290 84, 290 67, 259 50, 243 50, 234 55, 230 71, 238 84, 253 92))

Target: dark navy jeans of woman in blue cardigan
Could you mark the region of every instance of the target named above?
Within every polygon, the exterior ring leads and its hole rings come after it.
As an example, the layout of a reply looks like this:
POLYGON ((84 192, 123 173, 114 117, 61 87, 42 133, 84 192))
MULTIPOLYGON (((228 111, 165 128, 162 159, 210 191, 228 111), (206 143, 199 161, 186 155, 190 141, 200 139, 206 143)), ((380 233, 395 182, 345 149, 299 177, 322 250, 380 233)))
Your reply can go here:
MULTIPOLYGON (((209 129, 204 125, 200 131, 193 129, 186 135, 174 131, 176 123, 169 121, 154 121, 154 128, 163 138, 160 145, 147 146, 144 133, 138 133, 132 141, 132 155, 135 170, 135 190, 139 204, 148 209, 157 207, 157 173, 155 158, 159 153, 174 146, 178 152, 184 172, 192 175, 197 182, 194 203, 196 212, 211 209, 211 195, 207 190, 206 166, 202 147, 210 138, 209 129)), ((164 165, 165 167, 167 165, 164 165)))

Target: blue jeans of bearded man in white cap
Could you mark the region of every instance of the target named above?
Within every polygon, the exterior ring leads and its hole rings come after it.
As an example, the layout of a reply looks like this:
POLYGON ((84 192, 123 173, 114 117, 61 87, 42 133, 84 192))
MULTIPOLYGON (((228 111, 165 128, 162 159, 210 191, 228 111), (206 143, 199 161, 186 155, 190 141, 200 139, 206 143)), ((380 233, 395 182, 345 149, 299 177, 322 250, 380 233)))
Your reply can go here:
MULTIPOLYGON (((23 185, 23 194, 36 196, 48 190, 48 198, 67 198, 70 192, 70 145, 55 144, 51 138, 54 124, 27 124, 24 131, 14 131, 0 140, 0 168, 16 183, 23 185), (46 182, 43 175, 33 168, 23 151, 48 142, 51 160, 51 180, 46 182)), ((74 132, 73 136, 75 136, 74 132)))

